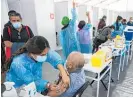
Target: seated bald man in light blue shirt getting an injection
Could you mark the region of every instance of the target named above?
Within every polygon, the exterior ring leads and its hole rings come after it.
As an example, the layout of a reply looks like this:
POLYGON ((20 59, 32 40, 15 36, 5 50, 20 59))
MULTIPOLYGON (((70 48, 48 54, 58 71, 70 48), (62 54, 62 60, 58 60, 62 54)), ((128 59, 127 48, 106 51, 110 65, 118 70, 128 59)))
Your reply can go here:
POLYGON ((85 83, 84 56, 79 52, 72 52, 66 62, 66 69, 70 75, 70 86, 64 85, 61 78, 57 85, 51 84, 48 96, 72 97, 77 90, 85 83))

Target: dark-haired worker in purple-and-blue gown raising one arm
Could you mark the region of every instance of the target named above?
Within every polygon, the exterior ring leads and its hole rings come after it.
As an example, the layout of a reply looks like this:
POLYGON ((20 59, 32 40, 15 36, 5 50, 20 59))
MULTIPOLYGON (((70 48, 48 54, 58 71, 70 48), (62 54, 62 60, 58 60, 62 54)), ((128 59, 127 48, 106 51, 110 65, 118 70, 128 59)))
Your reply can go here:
POLYGON ((92 53, 91 37, 90 37, 90 28, 92 27, 90 23, 90 15, 86 13, 88 17, 88 23, 84 20, 80 21, 78 24, 79 31, 77 32, 77 38, 80 44, 81 53, 92 53))

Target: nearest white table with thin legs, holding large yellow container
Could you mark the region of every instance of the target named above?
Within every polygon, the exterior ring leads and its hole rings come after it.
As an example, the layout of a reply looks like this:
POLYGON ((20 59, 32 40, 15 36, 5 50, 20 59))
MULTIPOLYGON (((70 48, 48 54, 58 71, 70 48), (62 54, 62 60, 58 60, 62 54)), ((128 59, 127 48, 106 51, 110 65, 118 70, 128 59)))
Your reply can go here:
MULTIPOLYGON (((91 58, 91 54, 84 54, 84 58, 88 60, 91 58)), ((97 97, 99 96, 99 86, 100 86, 100 81, 101 79, 106 75, 106 73, 110 70, 110 74, 109 74, 109 84, 108 84, 108 92, 107 92, 107 97, 109 96, 109 90, 110 90, 110 79, 111 79, 111 72, 112 72, 112 59, 110 61, 108 61, 107 63, 105 63, 101 68, 96 68, 93 67, 91 62, 89 61, 87 64, 84 65, 83 69, 85 71, 89 71, 92 73, 97 73, 98 74, 98 78, 94 78, 91 76, 86 76, 86 78, 92 79, 97 81, 97 97), (106 69, 106 71, 100 75, 100 73, 105 69, 105 67, 108 66, 108 69, 106 69)))

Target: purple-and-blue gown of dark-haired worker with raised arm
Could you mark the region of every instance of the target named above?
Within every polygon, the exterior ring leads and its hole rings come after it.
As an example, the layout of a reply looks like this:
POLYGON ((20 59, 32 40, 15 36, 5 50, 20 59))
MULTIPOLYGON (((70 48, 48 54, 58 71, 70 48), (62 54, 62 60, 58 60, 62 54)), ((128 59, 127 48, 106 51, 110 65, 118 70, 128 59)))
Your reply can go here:
POLYGON ((80 44, 81 53, 92 53, 90 28, 91 24, 86 24, 83 29, 77 32, 77 38, 80 44))

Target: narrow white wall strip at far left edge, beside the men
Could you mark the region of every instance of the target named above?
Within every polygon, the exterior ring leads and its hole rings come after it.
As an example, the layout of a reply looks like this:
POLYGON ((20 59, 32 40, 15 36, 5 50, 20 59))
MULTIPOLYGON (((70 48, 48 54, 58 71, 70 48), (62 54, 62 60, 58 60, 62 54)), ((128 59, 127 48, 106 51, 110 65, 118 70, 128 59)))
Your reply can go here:
POLYGON ((1 33, 3 34, 4 24, 9 21, 7 0, 1 0, 1 33))

